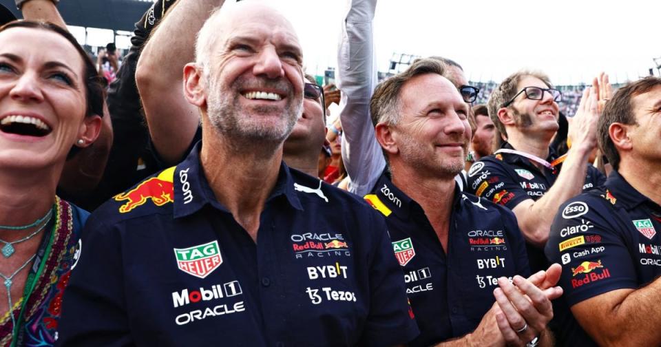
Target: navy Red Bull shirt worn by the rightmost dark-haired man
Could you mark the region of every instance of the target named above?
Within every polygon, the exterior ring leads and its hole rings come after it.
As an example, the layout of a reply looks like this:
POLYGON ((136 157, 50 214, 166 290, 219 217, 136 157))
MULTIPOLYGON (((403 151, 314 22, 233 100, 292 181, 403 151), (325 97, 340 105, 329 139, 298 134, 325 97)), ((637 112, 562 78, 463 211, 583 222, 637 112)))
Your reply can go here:
MULTIPOLYGON (((560 298, 567 319, 559 341, 596 346, 569 307, 622 288, 640 288, 661 275, 661 207, 636 191, 617 171, 605 186, 570 199, 558 209, 545 252, 563 266, 560 298)), ((563 312, 558 312, 563 315, 563 312)))

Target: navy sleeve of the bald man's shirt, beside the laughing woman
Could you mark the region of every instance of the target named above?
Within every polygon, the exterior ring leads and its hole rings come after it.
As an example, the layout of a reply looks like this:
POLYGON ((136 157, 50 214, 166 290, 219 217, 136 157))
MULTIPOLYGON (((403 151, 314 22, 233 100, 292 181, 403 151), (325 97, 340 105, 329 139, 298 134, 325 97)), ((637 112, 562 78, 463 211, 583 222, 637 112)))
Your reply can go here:
MULTIPOLYGON (((64 292, 58 346, 129 346, 122 255, 117 238, 92 215, 81 235, 81 255, 64 292), (75 315, 66 312, 75 312, 75 315)), ((130 293, 130 290, 129 290, 130 293)))

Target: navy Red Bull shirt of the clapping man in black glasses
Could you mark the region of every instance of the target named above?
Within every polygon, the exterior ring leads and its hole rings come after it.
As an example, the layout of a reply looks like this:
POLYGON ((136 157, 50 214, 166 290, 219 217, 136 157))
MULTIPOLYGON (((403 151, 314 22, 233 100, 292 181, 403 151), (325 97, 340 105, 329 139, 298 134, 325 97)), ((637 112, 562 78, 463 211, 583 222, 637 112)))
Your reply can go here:
MULTIPOLYGON (((509 143, 502 148, 514 149, 509 143)), ((554 163, 559 161, 557 159, 553 149, 549 149, 547 162, 554 163)), ((524 200, 538 200, 544 196, 558 178, 561 168, 562 162, 558 162, 554 169, 539 169, 528 158, 512 153, 487 156, 470 167, 467 191, 511 210, 524 200)), ((598 169, 588 165, 583 189, 600 187, 605 181, 598 169)), ((532 244, 527 244, 527 250, 532 271, 546 270, 543 250, 532 244)))

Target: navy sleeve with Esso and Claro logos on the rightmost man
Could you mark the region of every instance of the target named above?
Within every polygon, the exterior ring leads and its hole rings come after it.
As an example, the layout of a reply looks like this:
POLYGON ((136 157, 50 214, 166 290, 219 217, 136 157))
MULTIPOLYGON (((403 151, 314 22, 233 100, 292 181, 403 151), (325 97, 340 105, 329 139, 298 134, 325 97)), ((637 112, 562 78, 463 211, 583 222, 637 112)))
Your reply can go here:
POLYGON ((597 193, 565 202, 556 214, 545 253, 562 264, 560 286, 571 307, 585 299, 622 288, 636 288, 637 271, 626 230, 597 193))

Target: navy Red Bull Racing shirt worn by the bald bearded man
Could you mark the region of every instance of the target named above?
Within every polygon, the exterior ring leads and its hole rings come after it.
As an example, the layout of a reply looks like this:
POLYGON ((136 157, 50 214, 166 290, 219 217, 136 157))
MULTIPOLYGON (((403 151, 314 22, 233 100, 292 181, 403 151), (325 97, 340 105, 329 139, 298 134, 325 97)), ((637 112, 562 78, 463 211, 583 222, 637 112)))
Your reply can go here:
POLYGON ((258 240, 199 145, 103 204, 64 295, 63 346, 390 346, 418 335, 384 219, 284 163, 258 240))

